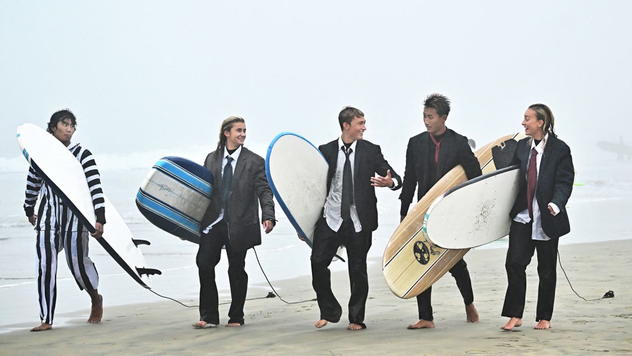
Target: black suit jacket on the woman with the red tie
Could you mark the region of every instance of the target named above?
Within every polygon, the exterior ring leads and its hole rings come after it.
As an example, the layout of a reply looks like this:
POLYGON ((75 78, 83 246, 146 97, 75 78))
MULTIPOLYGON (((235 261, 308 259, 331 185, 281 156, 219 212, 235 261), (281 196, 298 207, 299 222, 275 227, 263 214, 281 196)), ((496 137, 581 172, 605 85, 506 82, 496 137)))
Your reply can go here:
MULTIPOLYGON (((575 169, 571 149, 564 141, 550 135, 545 143, 544 156, 540 161, 535 198, 540 208, 540 218, 544 233, 551 239, 559 238, 571 231, 566 214, 566 203, 573 191, 575 169), (559 213, 553 216, 549 212, 549 203, 559 207, 559 213)), ((520 192, 509 217, 514 219, 526 206, 526 174, 531 155, 531 137, 518 141, 511 165, 520 165, 520 192)))

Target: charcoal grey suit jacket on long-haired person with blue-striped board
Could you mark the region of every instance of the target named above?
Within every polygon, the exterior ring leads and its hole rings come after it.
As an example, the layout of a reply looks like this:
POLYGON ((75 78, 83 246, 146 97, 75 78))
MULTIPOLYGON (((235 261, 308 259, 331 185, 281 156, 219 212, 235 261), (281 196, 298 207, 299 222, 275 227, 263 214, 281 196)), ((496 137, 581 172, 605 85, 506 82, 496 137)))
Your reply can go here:
MULTIPOLYGON (((222 207, 222 155, 224 149, 213 151, 204 161, 204 167, 213 174, 214 186, 210 206, 200 224, 200 234, 217 219, 222 207)), ((228 223, 228 238, 235 251, 245 251, 261 245, 258 201, 261 204, 261 222, 274 220, 274 201, 265 177, 265 160, 241 146, 231 181, 227 211, 224 212, 224 220, 228 223)))

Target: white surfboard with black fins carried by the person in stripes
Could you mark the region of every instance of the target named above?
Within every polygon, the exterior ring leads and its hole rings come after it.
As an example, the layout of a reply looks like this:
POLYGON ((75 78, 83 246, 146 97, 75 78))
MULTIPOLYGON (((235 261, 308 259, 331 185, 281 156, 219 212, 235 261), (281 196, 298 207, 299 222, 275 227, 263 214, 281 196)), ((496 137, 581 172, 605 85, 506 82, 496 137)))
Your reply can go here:
MULTIPOLYGON (((94 232, 94 206, 81 163, 64 144, 36 125, 18 126, 17 138, 22 154, 35 172, 70 207, 80 223, 88 231, 94 232)), ((96 240, 138 284, 151 288, 149 275, 161 272, 147 267, 138 248, 138 245, 150 245, 149 241, 134 239, 105 194, 104 200, 107 223, 104 225, 103 236, 96 240)))

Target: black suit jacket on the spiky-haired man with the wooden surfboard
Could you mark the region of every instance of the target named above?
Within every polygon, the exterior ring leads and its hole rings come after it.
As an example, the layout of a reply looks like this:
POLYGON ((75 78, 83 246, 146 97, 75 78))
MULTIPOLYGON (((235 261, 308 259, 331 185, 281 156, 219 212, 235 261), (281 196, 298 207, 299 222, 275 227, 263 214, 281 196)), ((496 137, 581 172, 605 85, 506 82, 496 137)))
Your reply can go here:
POLYGON ((441 141, 439 149, 439 159, 437 160, 437 176, 434 179, 429 177, 428 169, 428 140, 430 134, 422 132, 417 136, 413 136, 408 141, 406 148, 406 170, 404 170, 404 182, 399 200, 402 203, 401 215, 406 215, 408 206, 413 201, 415 188, 419 184, 417 190, 417 200, 421 200, 428 193, 430 188, 441 177, 446 175, 452 168, 457 165, 463 166, 468 179, 473 179, 482 174, 480 163, 474 156, 468 144, 468 138, 459 135, 454 130, 446 129, 446 133, 441 141), (406 210, 405 212, 403 210, 406 210))

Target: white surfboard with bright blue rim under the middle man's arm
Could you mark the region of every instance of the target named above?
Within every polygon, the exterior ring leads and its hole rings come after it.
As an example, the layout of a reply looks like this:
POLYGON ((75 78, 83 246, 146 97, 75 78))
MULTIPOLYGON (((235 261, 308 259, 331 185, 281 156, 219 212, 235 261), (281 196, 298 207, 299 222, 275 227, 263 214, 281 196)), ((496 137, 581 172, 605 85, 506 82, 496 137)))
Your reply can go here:
MULTIPOLYGON (((265 174, 281 210, 312 247, 316 222, 327 199, 329 163, 305 137, 281 132, 268 146, 265 174)), ((342 256, 342 248, 336 255, 342 256)))

